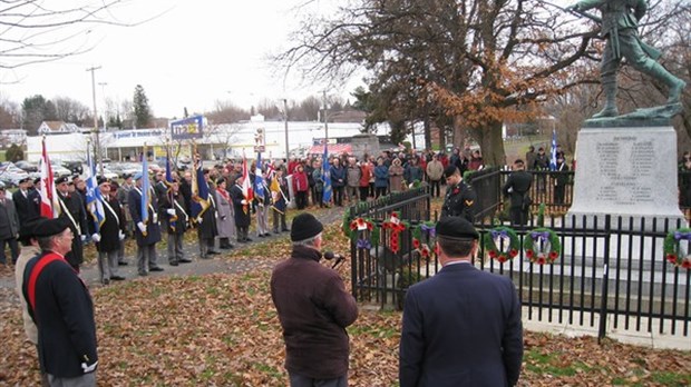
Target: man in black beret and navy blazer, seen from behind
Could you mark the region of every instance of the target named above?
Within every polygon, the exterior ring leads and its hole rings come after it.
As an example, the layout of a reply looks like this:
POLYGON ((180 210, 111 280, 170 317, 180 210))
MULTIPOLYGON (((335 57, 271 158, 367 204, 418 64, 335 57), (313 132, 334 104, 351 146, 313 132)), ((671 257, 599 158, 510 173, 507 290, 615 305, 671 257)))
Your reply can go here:
POLYGON ((476 269, 479 236, 460 217, 437 224, 436 276, 406 292, 400 386, 514 386, 520 374, 520 301, 508 277, 476 269))

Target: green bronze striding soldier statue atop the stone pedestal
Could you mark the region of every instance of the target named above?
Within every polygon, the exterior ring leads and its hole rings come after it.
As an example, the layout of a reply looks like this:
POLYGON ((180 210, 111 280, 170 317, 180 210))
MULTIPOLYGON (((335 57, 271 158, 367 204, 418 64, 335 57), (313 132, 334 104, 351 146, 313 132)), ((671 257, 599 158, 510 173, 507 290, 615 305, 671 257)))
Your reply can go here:
POLYGON ((600 21, 602 23, 601 36, 607 40, 600 64, 600 79, 606 100, 604 109, 593 118, 619 116, 616 70, 622 58, 626 58, 626 61, 636 70, 669 87, 668 105, 679 102, 681 91, 687 83, 658 63, 660 51, 645 44, 639 38, 639 21, 648 11, 646 0, 582 0, 567 7, 566 10, 600 21), (584 12, 593 8, 602 12, 601 20, 584 12))

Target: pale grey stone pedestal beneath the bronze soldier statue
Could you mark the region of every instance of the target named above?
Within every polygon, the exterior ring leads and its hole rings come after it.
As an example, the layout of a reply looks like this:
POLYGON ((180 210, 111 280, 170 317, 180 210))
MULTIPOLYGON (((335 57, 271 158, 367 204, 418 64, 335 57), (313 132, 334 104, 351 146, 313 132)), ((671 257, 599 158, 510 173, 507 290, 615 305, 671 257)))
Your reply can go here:
POLYGON ((624 229, 652 230, 653 219, 656 229, 663 229, 665 220, 670 226, 683 220, 685 227, 671 126, 583 128, 576 160, 567 226, 601 229, 611 215, 623 218, 624 229))

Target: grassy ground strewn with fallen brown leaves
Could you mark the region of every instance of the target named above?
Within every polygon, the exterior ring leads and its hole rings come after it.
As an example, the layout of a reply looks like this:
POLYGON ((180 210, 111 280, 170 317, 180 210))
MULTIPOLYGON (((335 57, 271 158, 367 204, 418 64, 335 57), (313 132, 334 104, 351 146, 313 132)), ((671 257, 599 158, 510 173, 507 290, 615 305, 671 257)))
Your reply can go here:
MULTIPOLYGON (((325 248, 348 254, 339 225, 324 232, 325 248)), ((236 272, 149 277, 94 289, 99 384, 285 386, 284 346, 269 280, 275 262, 288 257, 290 242, 284 238, 234 250, 224 259, 236 272)), ((350 262, 338 270, 349 285, 350 262)), ((36 349, 26 340, 17 296, 0 289, 0 386, 39 385, 36 349)), ((401 314, 367 309, 348 328, 350 385, 397 386, 401 314)), ((687 386, 691 353, 526 333, 519 385, 687 386)))

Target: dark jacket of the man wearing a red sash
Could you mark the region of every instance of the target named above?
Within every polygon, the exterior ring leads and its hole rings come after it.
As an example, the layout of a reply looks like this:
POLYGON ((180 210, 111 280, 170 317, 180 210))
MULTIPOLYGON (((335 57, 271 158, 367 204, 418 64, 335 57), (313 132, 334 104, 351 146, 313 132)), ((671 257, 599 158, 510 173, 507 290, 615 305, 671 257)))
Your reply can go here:
MULTIPOLYGON (((22 292, 29 299, 29 278, 48 252, 31 258, 23 274, 22 292)), ((28 301, 27 301, 28 304, 28 301)), ((43 373, 69 378, 84 375, 81 363, 98 360, 94 302, 84 281, 62 259, 48 264, 36 281, 38 354, 43 373)))

